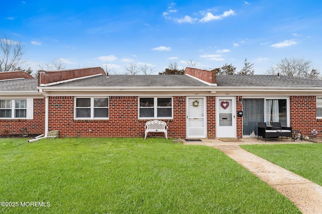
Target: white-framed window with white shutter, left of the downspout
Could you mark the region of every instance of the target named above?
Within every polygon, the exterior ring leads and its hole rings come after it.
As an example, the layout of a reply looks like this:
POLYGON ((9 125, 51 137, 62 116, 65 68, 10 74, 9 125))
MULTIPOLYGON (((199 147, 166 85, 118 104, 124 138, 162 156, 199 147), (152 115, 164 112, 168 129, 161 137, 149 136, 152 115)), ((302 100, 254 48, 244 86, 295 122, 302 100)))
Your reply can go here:
POLYGON ((0 100, 0 118, 33 119, 33 99, 0 100))

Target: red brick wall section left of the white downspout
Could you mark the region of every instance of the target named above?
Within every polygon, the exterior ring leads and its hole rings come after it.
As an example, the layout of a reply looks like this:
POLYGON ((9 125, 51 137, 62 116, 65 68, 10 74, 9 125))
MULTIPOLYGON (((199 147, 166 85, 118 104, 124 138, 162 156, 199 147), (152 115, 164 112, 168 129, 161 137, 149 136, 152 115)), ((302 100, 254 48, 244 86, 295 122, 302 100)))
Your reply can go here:
POLYGON ((45 99, 34 99, 34 118, 0 119, 0 135, 7 130, 9 135, 20 135, 20 128, 26 127, 29 134, 43 134, 45 132, 45 99))

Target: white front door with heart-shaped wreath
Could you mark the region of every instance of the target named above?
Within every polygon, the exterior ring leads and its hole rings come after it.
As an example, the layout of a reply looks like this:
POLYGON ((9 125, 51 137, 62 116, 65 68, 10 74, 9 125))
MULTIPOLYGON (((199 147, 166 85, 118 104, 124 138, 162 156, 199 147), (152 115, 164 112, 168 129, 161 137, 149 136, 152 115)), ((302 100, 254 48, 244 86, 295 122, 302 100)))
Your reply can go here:
POLYGON ((216 137, 236 137, 235 97, 216 97, 216 137))

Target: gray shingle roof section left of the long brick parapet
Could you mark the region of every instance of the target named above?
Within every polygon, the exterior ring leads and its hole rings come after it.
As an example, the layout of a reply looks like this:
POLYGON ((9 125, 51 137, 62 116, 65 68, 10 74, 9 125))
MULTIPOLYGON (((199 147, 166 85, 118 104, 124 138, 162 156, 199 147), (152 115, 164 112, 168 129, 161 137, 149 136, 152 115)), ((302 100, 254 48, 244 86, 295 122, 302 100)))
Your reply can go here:
POLYGON ((37 79, 16 79, 0 81, 0 91, 17 91, 17 92, 38 92, 37 90, 38 80, 37 79))

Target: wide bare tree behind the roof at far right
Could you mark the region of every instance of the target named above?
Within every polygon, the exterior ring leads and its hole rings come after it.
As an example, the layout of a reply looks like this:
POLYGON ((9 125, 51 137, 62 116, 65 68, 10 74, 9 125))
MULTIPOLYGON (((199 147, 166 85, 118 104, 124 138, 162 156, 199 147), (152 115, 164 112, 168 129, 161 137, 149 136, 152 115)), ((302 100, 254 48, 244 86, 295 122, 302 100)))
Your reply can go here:
POLYGON ((275 66, 272 66, 266 74, 285 75, 294 77, 308 77, 312 79, 321 78, 320 73, 313 68, 310 60, 304 58, 285 58, 275 66))

